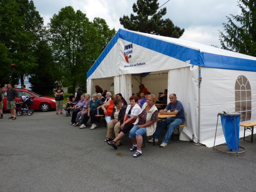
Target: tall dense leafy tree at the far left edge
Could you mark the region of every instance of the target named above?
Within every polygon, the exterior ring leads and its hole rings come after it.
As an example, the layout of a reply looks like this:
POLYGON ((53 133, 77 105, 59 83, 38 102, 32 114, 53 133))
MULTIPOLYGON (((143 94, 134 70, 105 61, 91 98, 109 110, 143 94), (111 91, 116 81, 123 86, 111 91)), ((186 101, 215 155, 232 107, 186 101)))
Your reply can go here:
POLYGON ((0 42, 8 50, 5 67, 12 79, 16 74, 22 84, 23 75, 36 65, 34 51, 42 27, 43 19, 33 1, 0 0, 0 42))

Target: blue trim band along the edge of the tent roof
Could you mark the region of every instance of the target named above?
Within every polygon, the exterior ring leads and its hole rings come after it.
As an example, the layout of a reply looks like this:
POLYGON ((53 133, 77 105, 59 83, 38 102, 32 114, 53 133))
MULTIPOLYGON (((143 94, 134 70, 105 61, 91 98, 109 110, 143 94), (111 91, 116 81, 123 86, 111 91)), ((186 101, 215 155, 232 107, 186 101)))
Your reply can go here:
POLYGON ((106 46, 99 58, 87 72, 87 78, 89 78, 95 69, 101 64, 119 38, 184 62, 190 61, 189 64, 191 65, 241 71, 256 71, 256 60, 201 52, 199 49, 188 48, 182 45, 163 41, 161 39, 147 37, 132 31, 119 29, 116 35, 114 35, 112 40, 109 42, 108 46, 106 46))

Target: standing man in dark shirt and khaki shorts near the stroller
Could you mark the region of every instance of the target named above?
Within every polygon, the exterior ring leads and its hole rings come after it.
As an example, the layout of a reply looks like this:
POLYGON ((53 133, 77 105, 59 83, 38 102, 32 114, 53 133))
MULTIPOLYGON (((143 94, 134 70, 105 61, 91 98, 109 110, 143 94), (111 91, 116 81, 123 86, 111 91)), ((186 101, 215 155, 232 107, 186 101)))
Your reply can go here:
POLYGON ((12 116, 9 117, 9 119, 15 120, 16 119, 16 105, 15 105, 15 99, 19 96, 18 91, 16 89, 12 88, 12 84, 7 84, 7 102, 6 107, 7 109, 10 109, 12 116))

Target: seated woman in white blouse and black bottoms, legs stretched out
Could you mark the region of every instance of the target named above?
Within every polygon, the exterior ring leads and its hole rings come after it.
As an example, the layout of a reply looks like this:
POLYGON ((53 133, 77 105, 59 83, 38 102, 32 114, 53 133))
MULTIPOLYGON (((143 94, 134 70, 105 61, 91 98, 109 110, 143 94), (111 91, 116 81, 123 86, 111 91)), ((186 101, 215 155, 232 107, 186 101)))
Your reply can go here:
POLYGON ((131 96, 129 100, 130 105, 127 106, 124 116, 124 123, 120 125, 119 134, 113 141, 108 142, 108 144, 114 147, 114 149, 117 149, 119 143, 121 142, 121 139, 127 134, 127 132, 131 131, 133 123, 136 121, 137 116, 141 110, 140 106, 137 103, 137 97, 131 96))

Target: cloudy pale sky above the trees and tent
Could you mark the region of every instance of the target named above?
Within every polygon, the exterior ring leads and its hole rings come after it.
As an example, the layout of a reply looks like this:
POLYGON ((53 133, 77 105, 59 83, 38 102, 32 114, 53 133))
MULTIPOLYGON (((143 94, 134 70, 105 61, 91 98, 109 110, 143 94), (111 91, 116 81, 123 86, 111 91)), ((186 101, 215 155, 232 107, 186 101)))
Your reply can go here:
MULTIPOLYGON (((90 20, 100 17, 106 20, 110 29, 123 28, 119 18, 132 13, 132 4, 136 0, 33 0, 37 11, 44 18, 45 25, 53 14, 61 8, 71 5, 81 10, 90 20)), ((158 0, 159 6, 168 0, 158 0)), ((174 25, 185 29, 182 39, 206 45, 218 45, 218 30, 223 30, 229 14, 239 15, 237 0, 169 0, 165 18, 170 18, 174 25)))

